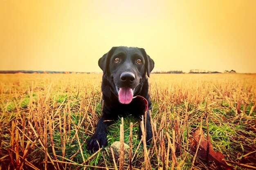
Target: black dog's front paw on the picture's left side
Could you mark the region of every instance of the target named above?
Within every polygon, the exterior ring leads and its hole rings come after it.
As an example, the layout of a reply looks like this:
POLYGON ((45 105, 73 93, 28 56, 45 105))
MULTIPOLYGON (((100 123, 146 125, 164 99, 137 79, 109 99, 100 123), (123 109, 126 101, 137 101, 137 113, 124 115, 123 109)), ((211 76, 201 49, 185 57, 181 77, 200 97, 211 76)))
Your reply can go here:
POLYGON ((107 135, 104 132, 94 133, 90 141, 88 142, 88 150, 91 152, 97 152, 100 148, 107 146, 107 135))

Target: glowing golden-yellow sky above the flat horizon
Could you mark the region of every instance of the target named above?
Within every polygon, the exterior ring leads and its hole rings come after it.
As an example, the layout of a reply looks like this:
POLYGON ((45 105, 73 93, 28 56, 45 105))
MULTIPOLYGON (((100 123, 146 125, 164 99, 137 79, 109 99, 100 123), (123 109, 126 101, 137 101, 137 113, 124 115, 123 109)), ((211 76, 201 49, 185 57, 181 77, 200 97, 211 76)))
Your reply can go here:
POLYGON ((256 73, 256 0, 0 0, 0 70, 98 72, 112 46, 155 71, 256 73))

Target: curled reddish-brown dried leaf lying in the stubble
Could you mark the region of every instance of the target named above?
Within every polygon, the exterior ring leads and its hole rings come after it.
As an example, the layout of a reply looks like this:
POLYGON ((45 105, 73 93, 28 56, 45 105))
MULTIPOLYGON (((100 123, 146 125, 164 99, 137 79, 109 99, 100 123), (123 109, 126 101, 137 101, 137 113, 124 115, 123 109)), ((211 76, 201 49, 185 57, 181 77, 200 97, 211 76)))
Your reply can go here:
MULTIPOLYGON (((197 146, 199 138, 200 138, 200 129, 193 132, 192 135, 193 135, 193 139, 192 139, 191 143, 193 143, 197 146)), ((197 157, 202 160, 207 160, 207 140, 205 139, 203 133, 201 134, 201 137, 202 137, 202 139, 200 142, 197 157)), ((217 162, 217 163, 221 164, 222 166, 229 167, 225 161, 222 161, 222 159, 224 159, 224 155, 219 151, 214 152, 209 136, 208 136, 208 143, 209 143, 208 160, 217 162)), ((193 145, 191 145, 191 146, 193 147, 193 145)), ((191 149, 193 150, 193 148, 191 148, 191 149)))

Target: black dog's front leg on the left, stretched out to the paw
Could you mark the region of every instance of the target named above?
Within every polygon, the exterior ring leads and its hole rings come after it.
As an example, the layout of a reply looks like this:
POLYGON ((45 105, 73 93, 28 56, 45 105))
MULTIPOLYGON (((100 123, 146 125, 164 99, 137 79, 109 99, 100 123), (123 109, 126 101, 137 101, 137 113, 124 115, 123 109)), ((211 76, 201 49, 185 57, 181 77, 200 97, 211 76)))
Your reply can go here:
POLYGON ((101 116, 97 124, 97 129, 88 143, 88 150, 91 152, 96 152, 99 150, 99 148, 104 148, 108 144, 106 134, 107 124, 104 122, 104 120, 106 120, 106 118, 101 116))

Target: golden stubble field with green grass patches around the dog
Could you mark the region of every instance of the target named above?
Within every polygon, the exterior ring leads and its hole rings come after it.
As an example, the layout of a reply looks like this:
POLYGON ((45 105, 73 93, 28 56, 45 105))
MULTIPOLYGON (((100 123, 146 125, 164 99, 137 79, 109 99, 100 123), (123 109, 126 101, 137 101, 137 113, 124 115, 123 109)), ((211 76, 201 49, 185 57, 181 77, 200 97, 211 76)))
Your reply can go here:
POLYGON ((1 74, 0 170, 256 169, 256 74, 151 74, 152 144, 128 115, 124 133, 120 118, 93 154, 86 146, 101 115, 101 76, 1 74), (132 146, 124 167, 108 152, 119 134, 132 146))

